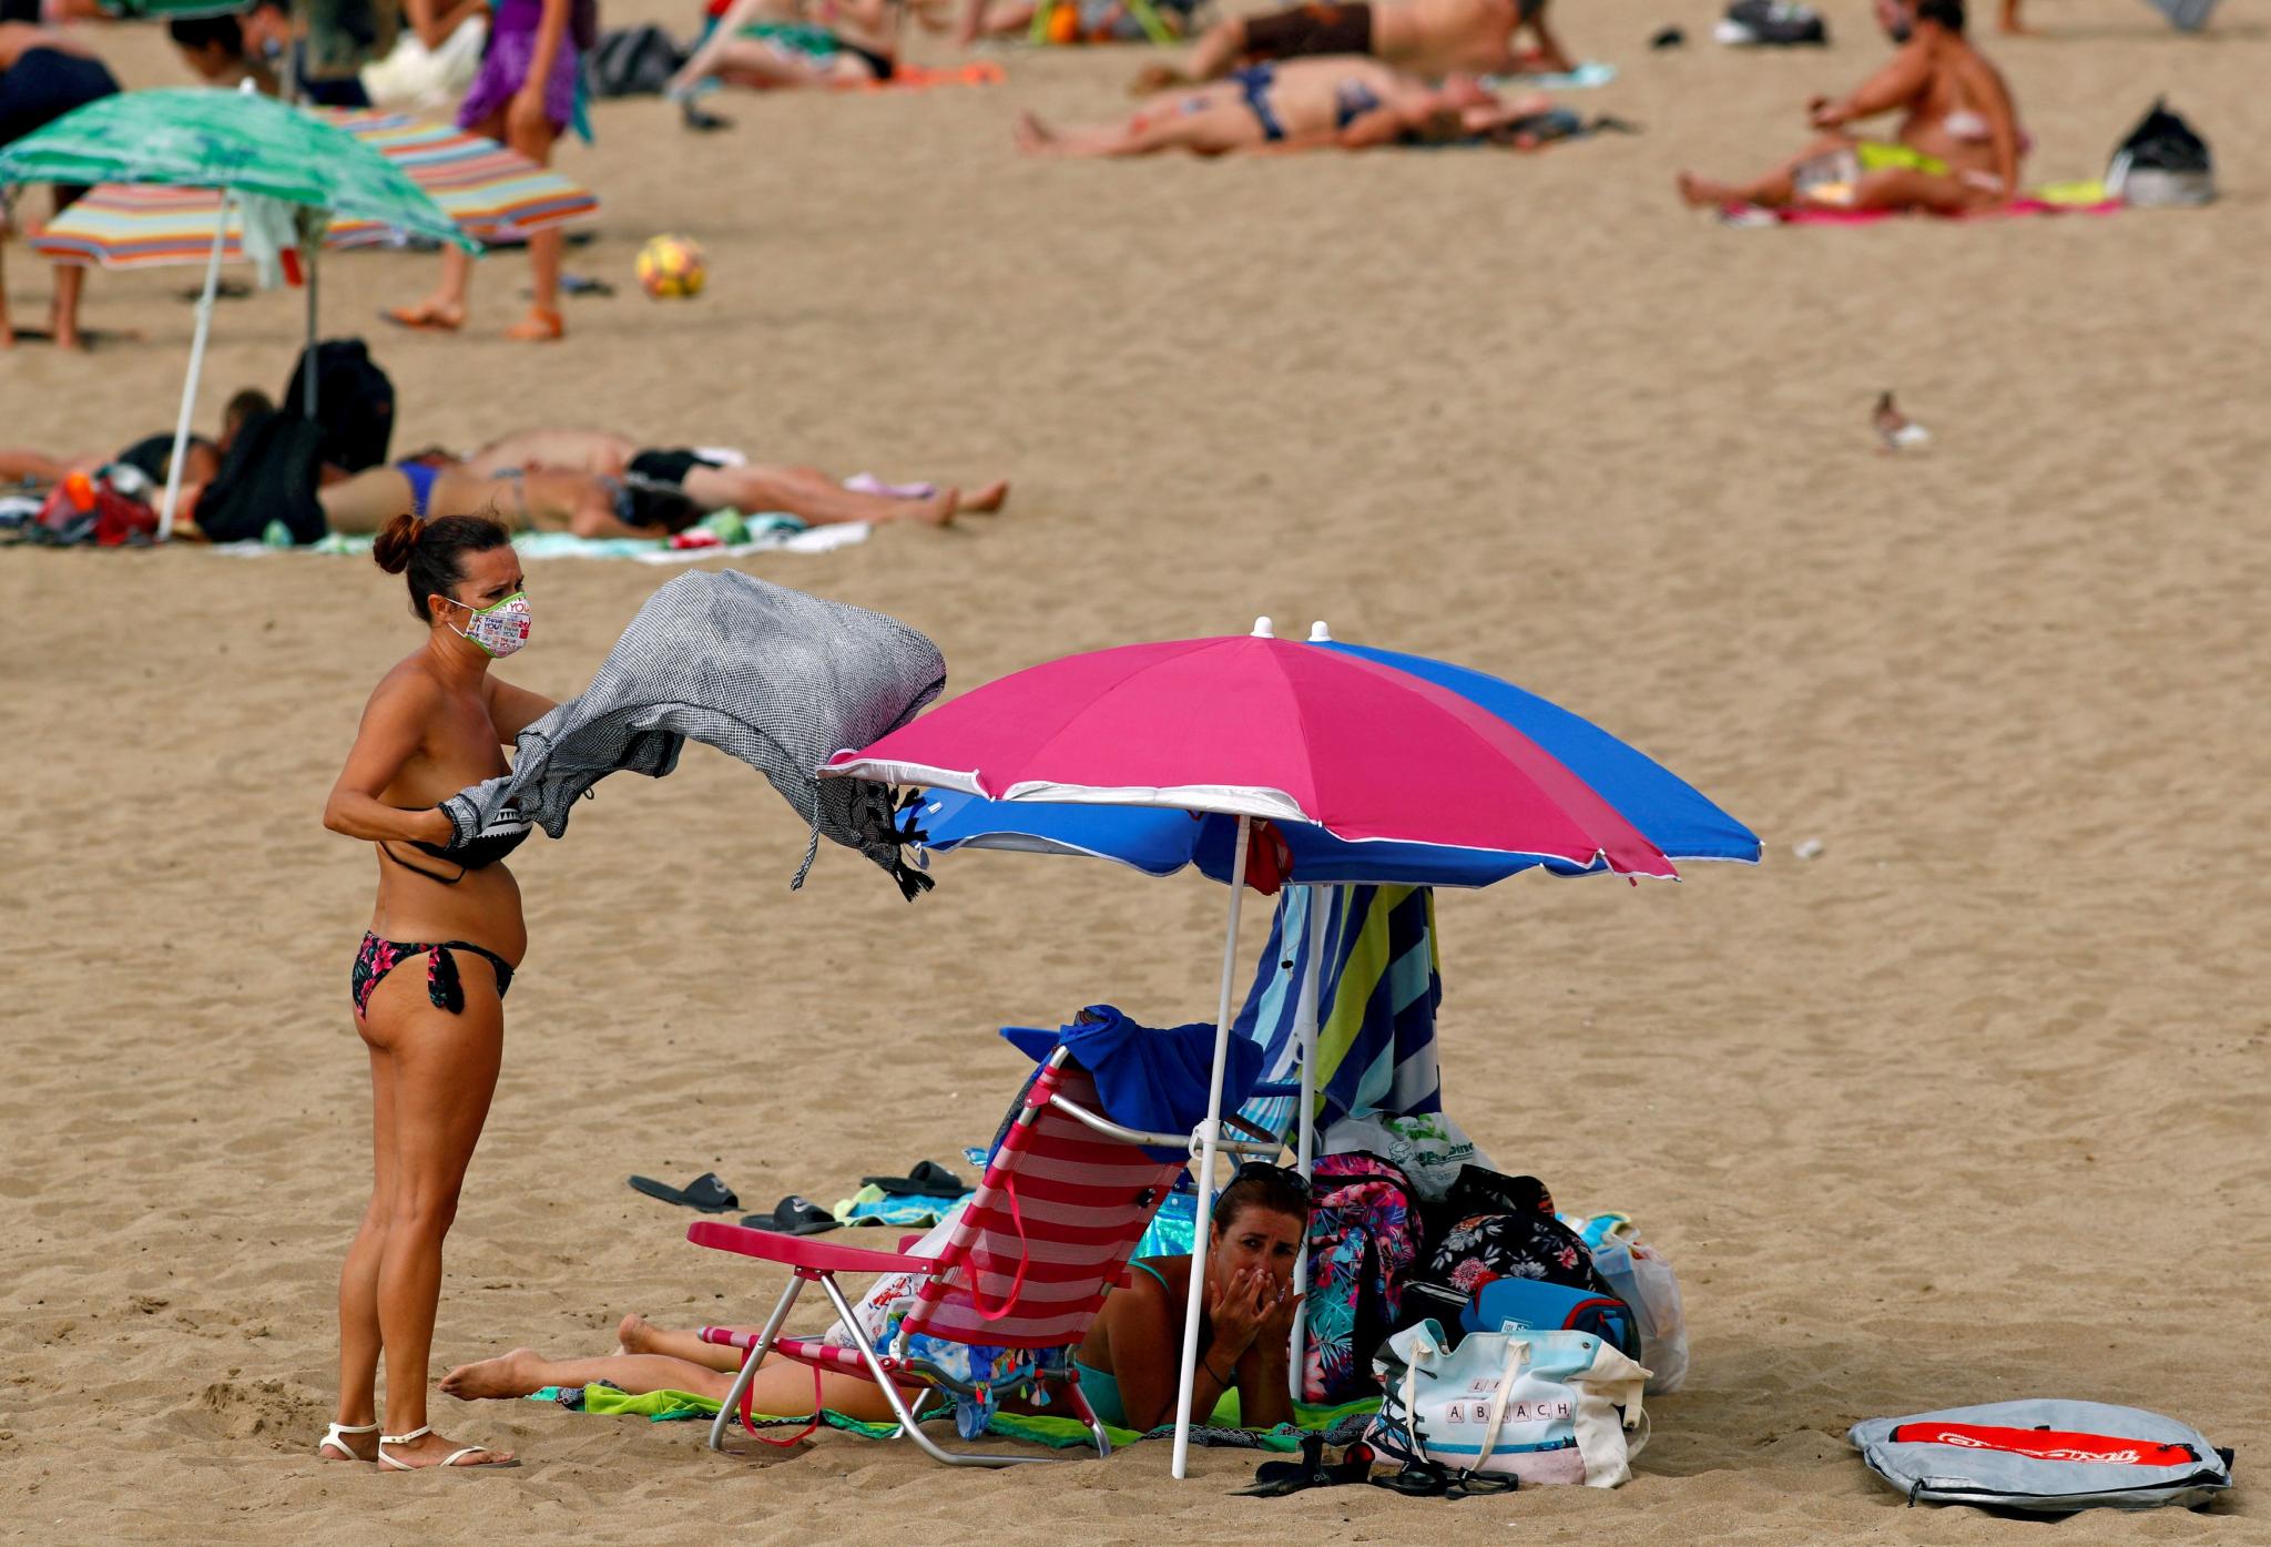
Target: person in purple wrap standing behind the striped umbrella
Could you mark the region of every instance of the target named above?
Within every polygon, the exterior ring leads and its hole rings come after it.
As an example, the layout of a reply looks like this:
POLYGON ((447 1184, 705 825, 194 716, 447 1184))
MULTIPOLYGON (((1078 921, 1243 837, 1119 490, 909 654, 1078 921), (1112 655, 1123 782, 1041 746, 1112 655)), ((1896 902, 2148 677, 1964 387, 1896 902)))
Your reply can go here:
MULTIPOLYGON (((488 52, 472 91, 456 109, 456 127, 484 134, 518 150, 538 166, 552 164, 552 143, 575 118, 577 73, 581 57, 568 34, 575 0, 497 0, 488 30, 488 52)), ((418 41, 441 48, 486 0, 404 0, 404 11, 418 41)), ((556 225, 529 234, 529 275, 534 302, 529 316, 504 332, 506 338, 543 343, 561 338, 561 250, 556 225)), ((443 248, 441 289, 413 307, 393 307, 382 316, 397 327, 454 334, 466 325, 466 291, 472 286, 472 257, 443 248)))

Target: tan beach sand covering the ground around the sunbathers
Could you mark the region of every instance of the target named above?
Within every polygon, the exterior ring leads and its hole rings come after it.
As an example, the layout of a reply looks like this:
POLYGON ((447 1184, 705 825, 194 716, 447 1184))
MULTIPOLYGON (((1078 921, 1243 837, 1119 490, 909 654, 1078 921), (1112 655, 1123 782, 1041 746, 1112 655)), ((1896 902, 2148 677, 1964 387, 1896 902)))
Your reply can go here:
MULTIPOLYGON (((1488 152, 1031 164, 1020 107, 1120 109, 1131 50, 1004 55, 990 91, 731 100, 686 136, 606 104, 561 166, 606 200, 570 338, 384 334, 431 259, 325 266, 327 332, 402 395, 395 445, 540 423, 740 443, 852 473, 1015 475, 1011 511, 745 568, 886 609, 954 688, 1133 638, 1283 632, 1469 661, 1649 750, 1751 822, 1758 870, 1683 886, 1522 877, 1440 906, 1447 1097, 1506 1170, 1621 1209, 1681 1270, 1687 1390, 1615 1492, 1465 1504, 1226 1499, 1254 1456, 947 1472, 831 1436, 713 1456, 695 1424, 434 1402, 516 1447, 481 1479, 322 1465, 338 1256, 368 1086, 347 968, 372 861, 318 813, 416 641, 368 563, 0 557, 0 1540, 740 1542, 1417 1540, 1846 1547, 2035 1542, 1908 1511, 1844 1429, 2019 1395, 2135 1402, 2239 1447, 2205 1515, 2083 1542, 2271 1540, 2271 1147, 2262 981, 2260 148, 2271 39, 2178 39, 2128 0, 2035 0, 1992 45, 2085 177, 2169 91, 2226 200, 1994 227, 1740 232, 1671 198, 1746 173, 1880 59, 1735 55, 1710 9, 1572 7, 1644 125, 1488 152), (1642 41, 1681 20, 1690 48, 1642 41), (711 254, 652 304, 631 254, 711 254), (1887 457, 1885 386, 1935 432, 1887 457), (1815 859, 1794 847, 1819 841, 1815 859)), ((611 20, 679 14, 636 11, 611 20)), ((933 43, 920 57, 940 59, 933 43)), ((118 45, 175 80, 152 34, 118 45)), ((0 357, 0 441, 111 448, 173 423, 193 270, 95 275, 89 359, 0 357)), ((9 252, 18 323, 45 270, 9 252)), ((295 298, 225 302, 200 423, 270 391, 295 298)), ((531 566, 572 695, 665 577, 531 566)), ((1458 800, 1460 791, 1444 791, 1458 800)), ((684 1240, 625 1174, 722 1172, 754 1209, 954 1159, 1020 1077, 992 1036, 1111 1000, 1215 1002, 1224 895, 1192 877, 977 854, 915 906, 738 763, 604 784, 516 856, 531 947, 450 1238, 436 1377, 600 1354, 625 1311, 754 1320, 779 1279, 684 1240)), ((1249 913, 1247 950, 1265 915, 1249 913)))

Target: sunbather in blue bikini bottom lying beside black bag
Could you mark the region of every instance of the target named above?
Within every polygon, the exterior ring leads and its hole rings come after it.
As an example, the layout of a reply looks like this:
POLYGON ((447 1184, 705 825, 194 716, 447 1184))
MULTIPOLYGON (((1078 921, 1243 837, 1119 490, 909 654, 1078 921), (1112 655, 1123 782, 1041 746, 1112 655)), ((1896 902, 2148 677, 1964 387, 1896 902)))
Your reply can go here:
POLYGON ((702 511, 677 488, 636 477, 531 470, 477 473, 463 463, 397 461, 316 491, 332 532, 379 532, 395 516, 486 516, 509 532, 668 536, 702 511))

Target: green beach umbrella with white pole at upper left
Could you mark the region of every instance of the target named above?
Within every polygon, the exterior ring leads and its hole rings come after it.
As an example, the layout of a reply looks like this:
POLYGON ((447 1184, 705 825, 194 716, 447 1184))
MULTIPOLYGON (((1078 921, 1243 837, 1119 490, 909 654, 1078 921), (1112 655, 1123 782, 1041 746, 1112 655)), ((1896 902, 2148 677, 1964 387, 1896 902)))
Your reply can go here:
MULTIPOLYGON (((188 443, 198 370, 204 366, 204 338, 211 332, 213 293, 220 286, 229 202, 277 200, 313 211, 318 223, 347 216, 456 243, 466 252, 481 250, 441 204, 377 150, 311 114, 252 93, 250 84, 243 91, 209 86, 125 91, 89 102, 0 150, 0 184, 11 182, 141 182, 218 189, 223 195, 223 218, 204 268, 204 295, 198 300, 198 332, 188 348, 188 382, 182 388, 166 504, 159 511, 161 536, 173 532, 182 448, 188 443)), ((320 243, 304 243, 311 341, 318 248, 320 243)), ((316 373, 307 375, 313 384, 316 373)))

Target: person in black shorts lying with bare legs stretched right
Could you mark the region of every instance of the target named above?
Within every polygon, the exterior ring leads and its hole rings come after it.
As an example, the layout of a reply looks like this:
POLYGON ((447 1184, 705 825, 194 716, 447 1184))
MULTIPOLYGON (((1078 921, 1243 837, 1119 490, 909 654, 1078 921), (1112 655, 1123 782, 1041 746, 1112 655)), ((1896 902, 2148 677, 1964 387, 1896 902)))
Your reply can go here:
POLYGON ((942 527, 963 511, 999 511, 1008 500, 1006 479, 967 495, 952 486, 888 486, 874 479, 847 488, 820 468, 736 461, 736 452, 715 448, 640 450, 629 436, 604 429, 522 429, 477 450, 466 468, 491 475, 522 468, 634 475, 684 488, 702 511, 781 511, 811 527, 847 520, 920 520, 942 527))

